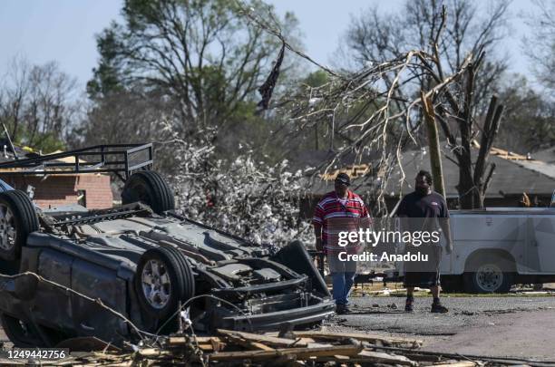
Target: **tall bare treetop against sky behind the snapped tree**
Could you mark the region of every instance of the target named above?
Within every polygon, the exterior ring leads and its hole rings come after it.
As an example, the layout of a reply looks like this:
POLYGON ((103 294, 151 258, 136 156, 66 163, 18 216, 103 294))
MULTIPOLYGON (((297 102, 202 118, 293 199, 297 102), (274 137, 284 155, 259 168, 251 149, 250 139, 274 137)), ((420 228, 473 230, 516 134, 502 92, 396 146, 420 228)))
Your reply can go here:
MULTIPOLYGON (((441 74, 459 70, 468 53, 487 54, 485 67, 476 75, 475 107, 487 108, 487 96, 492 93, 501 73, 507 68, 504 60, 493 57, 495 46, 504 35, 510 2, 496 0, 487 5, 484 15, 473 0, 415 0, 407 1, 398 14, 381 14, 377 7, 353 17, 345 36, 342 52, 358 67, 381 63, 398 57, 408 50, 423 50, 439 59, 441 74), (442 5, 447 8, 447 22, 442 23, 442 5), (438 33, 443 27, 444 30, 438 33), (435 39, 435 37, 438 37, 435 39)), ((414 84, 400 89, 398 97, 428 89, 433 79, 426 73, 415 74, 414 84)), ((391 81, 385 81, 391 82, 391 81)), ((474 106, 473 106, 474 107, 474 106)))

